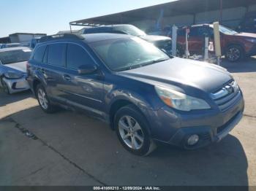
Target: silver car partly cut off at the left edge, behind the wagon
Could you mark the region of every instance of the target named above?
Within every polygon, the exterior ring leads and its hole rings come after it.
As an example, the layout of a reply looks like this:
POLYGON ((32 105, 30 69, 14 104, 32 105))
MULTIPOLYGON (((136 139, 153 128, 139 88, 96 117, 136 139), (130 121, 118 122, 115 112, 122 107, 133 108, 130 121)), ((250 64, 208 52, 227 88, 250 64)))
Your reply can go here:
POLYGON ((31 49, 12 47, 0 50, 0 86, 7 94, 29 90, 26 81, 26 63, 31 49))

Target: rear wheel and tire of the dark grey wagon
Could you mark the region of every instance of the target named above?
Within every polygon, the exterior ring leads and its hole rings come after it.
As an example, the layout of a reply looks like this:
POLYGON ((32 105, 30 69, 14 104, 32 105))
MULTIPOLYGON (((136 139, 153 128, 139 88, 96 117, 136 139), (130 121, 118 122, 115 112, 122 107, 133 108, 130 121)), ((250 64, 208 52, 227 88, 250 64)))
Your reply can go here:
POLYGON ((37 96, 38 104, 41 107, 42 111, 48 114, 56 112, 57 110, 56 106, 54 106, 53 104, 50 104, 48 95, 45 91, 45 87, 43 87, 41 84, 37 85, 36 96, 37 96))

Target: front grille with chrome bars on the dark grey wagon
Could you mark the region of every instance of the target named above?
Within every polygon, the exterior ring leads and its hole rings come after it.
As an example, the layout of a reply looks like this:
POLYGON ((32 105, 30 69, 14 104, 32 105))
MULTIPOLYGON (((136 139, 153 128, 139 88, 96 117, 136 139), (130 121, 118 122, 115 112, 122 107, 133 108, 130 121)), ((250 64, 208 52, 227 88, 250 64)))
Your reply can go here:
POLYGON ((211 93, 211 98, 214 99, 219 109, 224 112, 241 99, 241 91, 237 83, 232 81, 220 90, 217 90, 217 92, 211 93))

